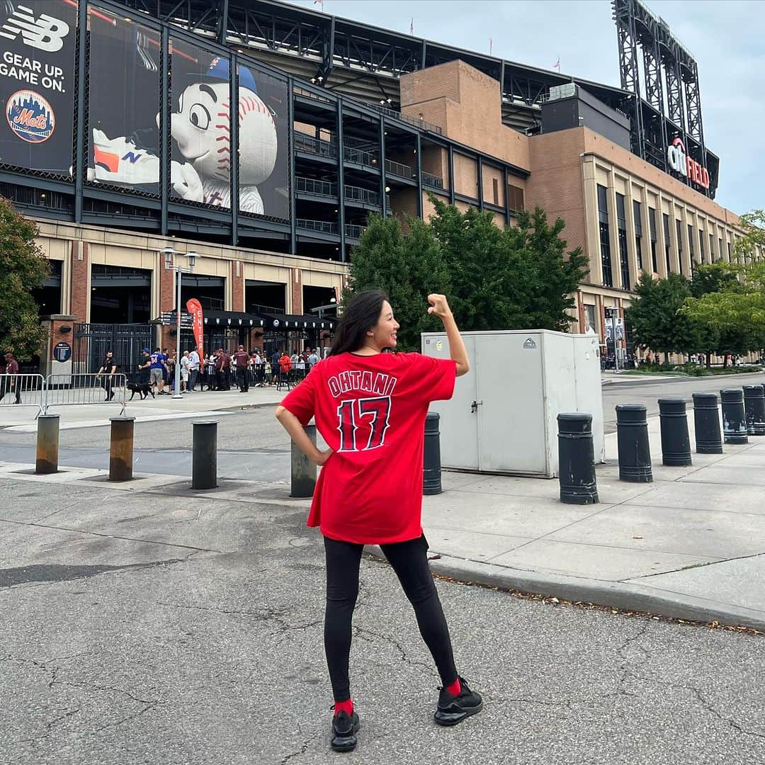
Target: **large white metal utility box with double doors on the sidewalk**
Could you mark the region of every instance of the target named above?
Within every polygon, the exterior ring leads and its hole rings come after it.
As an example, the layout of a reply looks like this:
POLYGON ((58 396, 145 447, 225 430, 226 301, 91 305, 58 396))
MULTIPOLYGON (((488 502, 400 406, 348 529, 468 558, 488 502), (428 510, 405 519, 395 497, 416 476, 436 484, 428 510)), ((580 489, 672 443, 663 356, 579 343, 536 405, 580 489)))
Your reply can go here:
MULTIPOLYGON (((441 415, 442 467, 555 477, 560 412, 592 415, 595 461, 604 461, 597 335, 503 330, 462 339, 470 373, 449 401, 430 407, 441 415)), ((422 334, 422 353, 448 359, 446 333, 422 334)))

